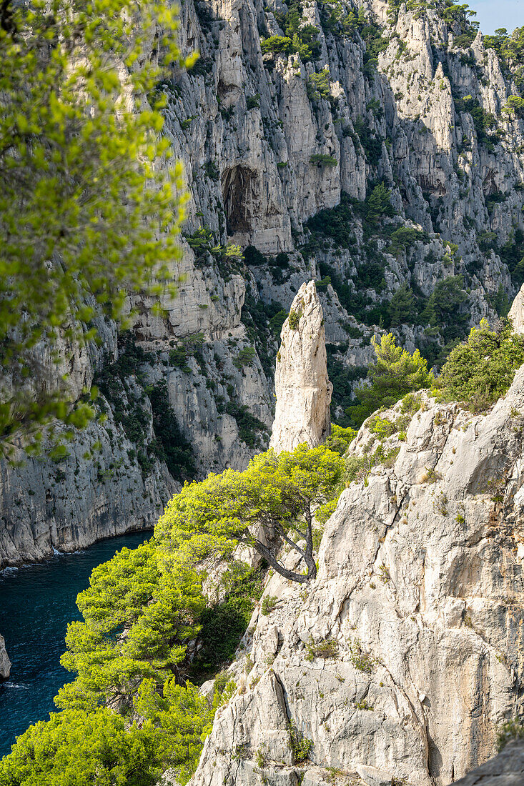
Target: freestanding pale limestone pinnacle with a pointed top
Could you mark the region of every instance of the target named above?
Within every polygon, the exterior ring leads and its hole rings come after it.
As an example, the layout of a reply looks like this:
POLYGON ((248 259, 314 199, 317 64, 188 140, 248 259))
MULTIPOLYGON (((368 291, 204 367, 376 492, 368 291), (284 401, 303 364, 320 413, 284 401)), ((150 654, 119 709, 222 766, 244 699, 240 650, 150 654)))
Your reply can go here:
POLYGON ((294 450, 301 443, 316 447, 330 432, 333 385, 327 376, 324 315, 315 281, 298 290, 280 340, 275 422, 269 443, 277 453, 294 450))

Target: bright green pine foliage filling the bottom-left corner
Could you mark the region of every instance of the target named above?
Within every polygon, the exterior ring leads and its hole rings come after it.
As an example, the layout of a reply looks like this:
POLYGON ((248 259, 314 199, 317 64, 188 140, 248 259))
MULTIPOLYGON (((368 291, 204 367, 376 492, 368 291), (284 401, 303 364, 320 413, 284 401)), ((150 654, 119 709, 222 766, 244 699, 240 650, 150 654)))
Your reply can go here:
POLYGON ((50 715, 21 735, 0 761, 2 786, 154 786, 168 767, 186 784, 197 767, 202 740, 232 681, 216 678, 212 699, 196 685, 171 678, 158 692, 153 680, 138 687, 130 722, 107 707, 68 709, 50 715))

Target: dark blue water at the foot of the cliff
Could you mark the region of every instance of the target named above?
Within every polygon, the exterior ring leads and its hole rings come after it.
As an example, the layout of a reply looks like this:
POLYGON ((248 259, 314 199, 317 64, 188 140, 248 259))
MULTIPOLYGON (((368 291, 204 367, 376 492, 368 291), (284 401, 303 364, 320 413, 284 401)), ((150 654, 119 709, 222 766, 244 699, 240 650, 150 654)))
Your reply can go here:
POLYGON ((109 538, 74 554, 0 572, 0 633, 12 663, 0 683, 0 757, 31 723, 56 710, 53 698, 74 675, 60 665, 68 622, 81 619, 76 596, 94 567, 124 546, 134 548, 150 532, 109 538))

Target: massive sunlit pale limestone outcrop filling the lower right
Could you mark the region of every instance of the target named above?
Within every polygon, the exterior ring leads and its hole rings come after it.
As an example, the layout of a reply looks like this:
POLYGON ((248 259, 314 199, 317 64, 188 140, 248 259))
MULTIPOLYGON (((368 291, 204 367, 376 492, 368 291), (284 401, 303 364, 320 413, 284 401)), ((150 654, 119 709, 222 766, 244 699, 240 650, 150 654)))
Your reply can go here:
POLYGON ((275 611, 253 615, 194 786, 323 784, 329 768, 372 783, 370 767, 445 786, 522 711, 524 367, 486 415, 420 393, 379 420, 350 447, 360 473, 318 578, 271 578, 275 611), (290 722, 311 740, 300 764, 290 722))

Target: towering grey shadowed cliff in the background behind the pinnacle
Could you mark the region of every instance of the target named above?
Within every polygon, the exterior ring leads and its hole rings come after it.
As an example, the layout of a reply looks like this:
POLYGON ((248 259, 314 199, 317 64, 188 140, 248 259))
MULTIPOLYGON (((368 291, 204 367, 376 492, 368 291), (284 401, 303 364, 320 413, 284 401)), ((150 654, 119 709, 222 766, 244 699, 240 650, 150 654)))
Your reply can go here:
MULTIPOLYGON (((150 385, 165 381, 198 476, 242 468, 268 446, 278 314, 304 282, 318 283, 336 418, 381 325, 434 362, 511 302, 524 255, 522 120, 502 114, 511 74, 461 22, 387 9, 376 0, 369 24, 343 29, 304 0, 315 43, 299 56, 263 51, 290 32, 278 2, 183 4, 181 45, 201 59, 158 86, 190 193, 179 296, 163 303, 165 318, 134 299, 149 355, 127 392, 101 402, 105 424, 63 462, 2 468, 0 565, 157 518, 180 478, 157 450, 150 385), (380 182, 388 204, 372 198, 380 182), (402 286, 411 301, 392 310, 402 286), (434 317, 423 317, 436 290, 434 317)), ((103 330, 100 349, 62 348, 78 393, 116 358, 114 325, 103 330)))

